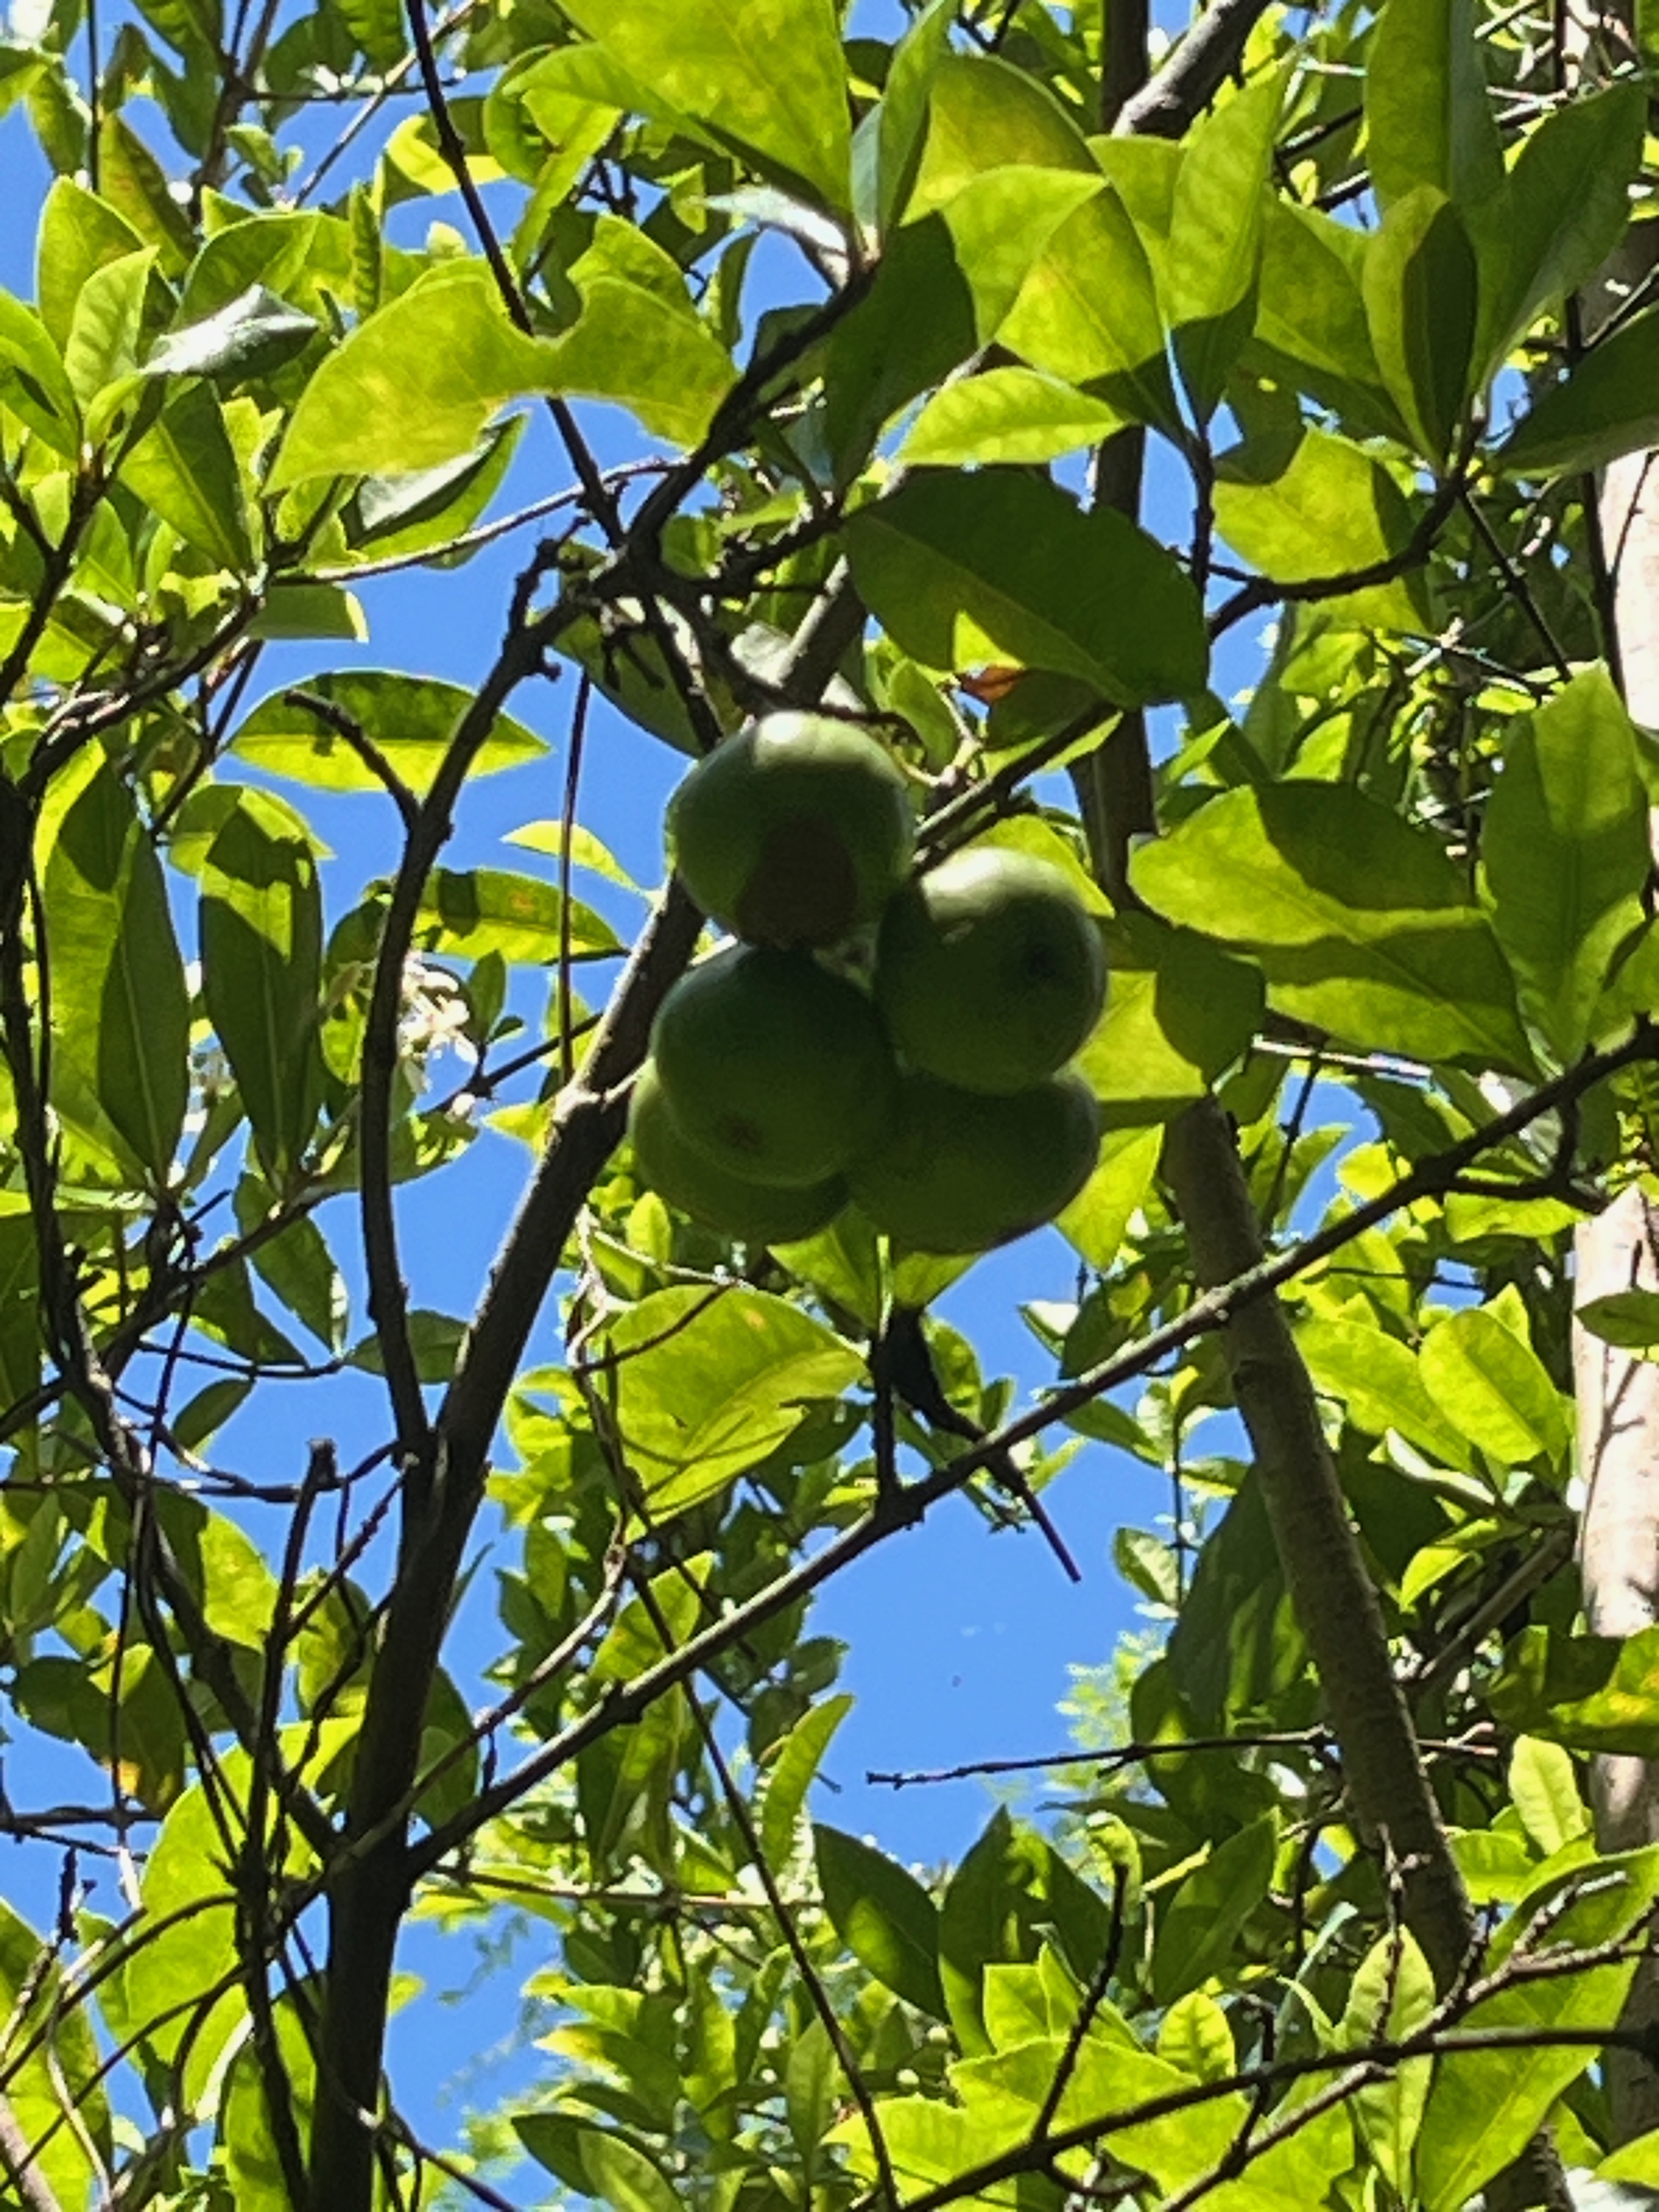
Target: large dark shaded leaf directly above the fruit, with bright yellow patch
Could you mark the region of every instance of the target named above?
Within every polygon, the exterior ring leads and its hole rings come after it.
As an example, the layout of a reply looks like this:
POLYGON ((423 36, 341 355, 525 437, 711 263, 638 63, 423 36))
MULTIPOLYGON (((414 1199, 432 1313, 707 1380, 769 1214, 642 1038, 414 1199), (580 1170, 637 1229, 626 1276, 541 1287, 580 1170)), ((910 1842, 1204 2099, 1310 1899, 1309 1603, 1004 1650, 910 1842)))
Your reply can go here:
POLYGON ((911 476, 858 509, 845 542, 865 604, 929 668, 1053 668, 1119 706, 1203 688, 1203 613, 1175 560, 1042 478, 911 476))

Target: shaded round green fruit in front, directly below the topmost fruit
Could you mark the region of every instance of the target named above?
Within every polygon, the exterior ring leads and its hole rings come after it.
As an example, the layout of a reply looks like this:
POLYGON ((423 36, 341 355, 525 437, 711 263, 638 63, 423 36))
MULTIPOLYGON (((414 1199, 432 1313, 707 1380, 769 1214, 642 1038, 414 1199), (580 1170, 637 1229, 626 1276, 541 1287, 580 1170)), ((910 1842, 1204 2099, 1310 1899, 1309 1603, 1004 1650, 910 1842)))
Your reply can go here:
POLYGON ((810 953, 730 945, 650 1033, 675 1121, 728 1175, 805 1188, 887 1130, 898 1071, 863 991, 810 953))

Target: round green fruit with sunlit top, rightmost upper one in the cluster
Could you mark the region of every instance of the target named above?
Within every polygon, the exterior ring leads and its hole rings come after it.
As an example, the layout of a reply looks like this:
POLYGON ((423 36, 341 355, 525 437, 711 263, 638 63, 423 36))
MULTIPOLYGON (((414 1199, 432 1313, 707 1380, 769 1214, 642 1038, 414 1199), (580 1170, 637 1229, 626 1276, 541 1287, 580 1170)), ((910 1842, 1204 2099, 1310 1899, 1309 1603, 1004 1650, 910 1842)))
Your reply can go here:
POLYGON ((876 1004, 898 1051, 964 1091, 1024 1091, 1099 1020, 1106 956, 1048 860, 980 845, 887 907, 876 1004))

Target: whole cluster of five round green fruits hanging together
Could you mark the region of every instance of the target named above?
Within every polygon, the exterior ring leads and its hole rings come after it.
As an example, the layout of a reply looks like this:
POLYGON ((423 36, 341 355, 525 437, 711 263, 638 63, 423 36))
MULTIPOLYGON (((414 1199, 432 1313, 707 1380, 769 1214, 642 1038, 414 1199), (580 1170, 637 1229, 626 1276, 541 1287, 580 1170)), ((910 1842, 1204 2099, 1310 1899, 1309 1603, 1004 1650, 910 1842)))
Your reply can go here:
POLYGON ((1064 872, 969 847, 914 876, 905 779, 863 730, 768 714, 692 768, 668 830, 728 945, 664 1000, 635 1084, 646 1181, 748 1243, 812 1237, 856 1199, 920 1252, 1051 1221, 1099 1152, 1062 1073, 1106 993, 1064 872), (865 991, 818 956, 876 925, 865 991))

